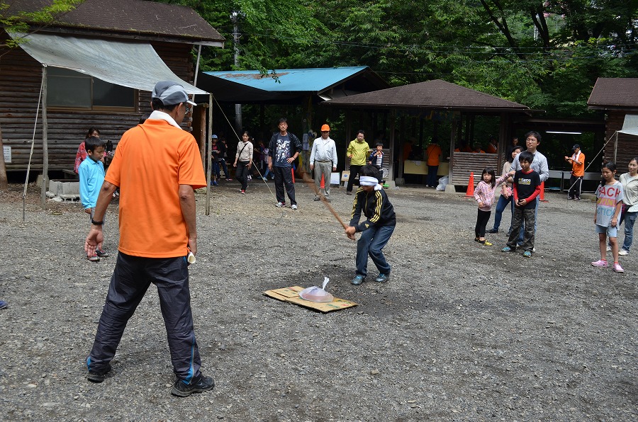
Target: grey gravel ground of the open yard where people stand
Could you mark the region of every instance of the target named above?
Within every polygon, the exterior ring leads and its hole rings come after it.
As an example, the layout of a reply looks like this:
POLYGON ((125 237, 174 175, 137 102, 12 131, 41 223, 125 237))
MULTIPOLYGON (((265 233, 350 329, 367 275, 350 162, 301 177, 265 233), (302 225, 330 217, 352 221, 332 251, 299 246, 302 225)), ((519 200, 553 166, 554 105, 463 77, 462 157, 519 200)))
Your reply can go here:
MULTIPOLYGON (((269 183, 273 189, 272 183, 269 183)), ((11 421, 635 421, 638 251, 625 274, 598 259, 589 200, 547 194, 530 259, 474 242, 462 194, 388 191, 397 228, 390 283, 350 285, 355 244, 298 183, 299 210, 264 183, 198 195, 191 295, 213 392, 169 394, 174 380, 157 292, 124 333, 113 373, 85 379, 116 261, 83 258, 78 204, 40 210, 30 188, 0 193, 0 419, 11 421), (321 314, 262 295, 320 285, 359 305, 321 314)), ((352 196, 333 190, 347 221, 352 196)), ((117 203, 105 246, 115 251, 117 203)), ((507 218, 505 218, 507 219, 507 218)), ((620 235, 622 240, 622 235, 620 235)), ((634 246, 638 247, 638 246, 634 246)), ((376 275, 374 265, 371 275, 376 275)))

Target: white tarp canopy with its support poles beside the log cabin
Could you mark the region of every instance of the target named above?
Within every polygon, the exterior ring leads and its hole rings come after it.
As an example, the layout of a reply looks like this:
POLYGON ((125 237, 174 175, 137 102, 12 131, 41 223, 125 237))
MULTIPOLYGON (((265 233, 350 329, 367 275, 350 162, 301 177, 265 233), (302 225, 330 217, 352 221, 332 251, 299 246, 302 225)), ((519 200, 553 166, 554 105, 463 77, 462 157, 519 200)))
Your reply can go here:
MULTIPOLYGON (((123 42, 99 38, 79 38, 50 33, 11 33, 11 38, 20 41, 20 47, 43 65, 41 105, 43 122, 43 186, 42 205, 45 207, 45 193, 48 183, 47 148, 47 67, 60 67, 89 74, 110 84, 152 91, 158 81, 176 81, 184 86, 186 93, 209 94, 183 81, 172 72, 157 52, 147 42, 123 42), (95 59, 98 56, 99 59, 95 59)), ((208 133, 211 133, 212 96, 208 95, 208 133)), ((40 104, 38 104, 38 110, 40 104)), ((37 115, 36 115, 37 125, 37 115)), ((33 154, 33 142, 31 154, 33 154)), ((206 139, 207 151, 209 150, 206 139)), ((210 155, 210 154, 208 154, 210 155)), ((29 159, 30 163, 30 159, 29 159)), ((30 164, 29 164, 30 166, 30 164)), ((27 171, 28 181, 28 171, 27 171)), ((26 183, 25 183, 26 194, 26 183)), ((207 195, 208 197, 208 195, 207 195)), ((208 200, 206 201, 208 204, 208 200)), ((208 207, 207 212, 208 214, 208 207)))

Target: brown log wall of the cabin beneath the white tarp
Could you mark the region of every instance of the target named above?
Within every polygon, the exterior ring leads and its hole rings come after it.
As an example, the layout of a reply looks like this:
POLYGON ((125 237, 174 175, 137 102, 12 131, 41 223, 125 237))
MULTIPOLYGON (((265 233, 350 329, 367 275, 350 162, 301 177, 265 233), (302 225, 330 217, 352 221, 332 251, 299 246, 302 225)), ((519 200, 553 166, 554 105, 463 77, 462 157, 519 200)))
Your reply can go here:
MULTIPOLYGON (((151 42, 159 57, 185 81, 193 80, 192 45, 151 42)), ((96 59, 98 59, 96 57, 96 59)), ((4 147, 11 147, 7 171, 27 169, 35 124, 42 65, 21 48, 0 49, 0 130, 4 147)), ((123 133, 150 112, 150 92, 138 91, 138 111, 113 113, 86 110, 47 110, 49 170, 73 170, 75 154, 89 127, 114 145, 123 133)), ((184 125, 186 126, 186 125, 184 125)), ((43 169, 42 112, 38 113, 31 169, 43 169)))

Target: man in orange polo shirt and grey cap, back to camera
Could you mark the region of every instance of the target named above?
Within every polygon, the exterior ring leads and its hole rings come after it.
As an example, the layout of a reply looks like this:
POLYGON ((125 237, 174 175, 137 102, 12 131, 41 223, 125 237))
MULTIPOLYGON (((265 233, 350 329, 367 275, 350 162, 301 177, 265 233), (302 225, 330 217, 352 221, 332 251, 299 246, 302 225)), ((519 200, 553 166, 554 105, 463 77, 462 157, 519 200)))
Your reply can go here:
POLYGON ((171 81, 155 84, 153 112, 126 131, 102 185, 84 249, 93 253, 103 241, 106 207, 120 188, 120 244, 108 287, 86 378, 102 382, 126 323, 150 283, 157 286, 166 326, 173 372, 171 394, 186 397, 213 389, 213 378, 201 374, 193 329, 189 250, 197 253, 194 189, 206 186, 199 148, 179 126, 188 113, 186 91, 171 81))

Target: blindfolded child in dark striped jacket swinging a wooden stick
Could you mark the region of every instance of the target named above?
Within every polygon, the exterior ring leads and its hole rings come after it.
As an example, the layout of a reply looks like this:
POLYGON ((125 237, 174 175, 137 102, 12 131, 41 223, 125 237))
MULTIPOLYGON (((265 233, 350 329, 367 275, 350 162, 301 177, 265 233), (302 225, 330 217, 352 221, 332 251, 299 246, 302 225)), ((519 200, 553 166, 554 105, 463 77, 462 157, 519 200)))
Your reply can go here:
POLYGON ((354 233, 361 232, 361 237, 357 241, 357 273, 352 279, 353 285, 360 285, 365 280, 368 256, 379 270, 379 275, 374 281, 385 283, 390 277, 391 267, 382 249, 394 232, 396 214, 388 195, 379 184, 377 174, 376 167, 371 165, 363 166, 359 171, 359 189, 352 202, 349 227, 345 229, 346 235, 353 240, 354 233), (359 223, 362 212, 366 220, 359 223))

